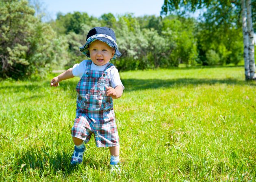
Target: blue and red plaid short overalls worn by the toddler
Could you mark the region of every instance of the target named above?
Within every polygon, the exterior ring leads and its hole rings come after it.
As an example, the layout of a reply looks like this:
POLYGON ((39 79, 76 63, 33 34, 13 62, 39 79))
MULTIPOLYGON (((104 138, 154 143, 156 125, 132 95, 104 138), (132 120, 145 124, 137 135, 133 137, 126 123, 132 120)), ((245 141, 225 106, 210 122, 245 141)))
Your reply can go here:
POLYGON ((109 73, 115 66, 109 63, 104 71, 92 71, 91 63, 87 61, 85 73, 76 86, 77 108, 72 136, 87 143, 93 133, 97 147, 118 146, 113 99, 106 96, 106 87, 111 86, 109 73))

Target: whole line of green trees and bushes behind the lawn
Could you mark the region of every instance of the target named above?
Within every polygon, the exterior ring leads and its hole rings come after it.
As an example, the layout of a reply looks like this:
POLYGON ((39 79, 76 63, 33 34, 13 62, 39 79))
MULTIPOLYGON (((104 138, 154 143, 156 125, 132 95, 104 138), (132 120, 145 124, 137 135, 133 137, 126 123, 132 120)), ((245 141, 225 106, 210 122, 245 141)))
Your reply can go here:
MULTIPOLYGON (((55 21, 43 23, 26 0, 0 0, 0 77, 44 76, 57 68, 69 68, 83 59, 79 47, 95 26, 115 31, 122 57, 113 60, 119 70, 190 65, 238 64, 243 60, 241 24, 230 17, 215 22, 211 10, 201 20, 132 14, 59 13, 55 21)), ((159 10, 160 11, 160 10, 159 10)), ((214 11, 214 10, 212 10, 214 11)))

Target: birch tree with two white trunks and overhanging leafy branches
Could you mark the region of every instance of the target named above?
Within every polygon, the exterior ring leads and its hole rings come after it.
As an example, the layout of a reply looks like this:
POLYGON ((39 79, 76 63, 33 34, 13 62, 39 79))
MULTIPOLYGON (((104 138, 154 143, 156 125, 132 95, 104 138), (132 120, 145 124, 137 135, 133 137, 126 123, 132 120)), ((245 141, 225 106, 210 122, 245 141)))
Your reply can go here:
MULTIPOLYGON (((162 15, 167 15, 168 12, 177 10, 179 6, 186 6, 191 8, 191 11, 195 11, 196 9, 200 9, 202 7, 208 8, 211 4, 218 3, 219 6, 222 7, 232 7, 236 9, 240 9, 239 16, 242 12, 243 17, 243 36, 244 36, 244 61, 245 61, 245 79, 246 80, 256 80, 255 76, 255 60, 254 60, 254 31, 253 31, 253 24, 252 24, 252 2, 251 0, 164 0, 164 4, 162 6, 162 15), (247 14, 245 13, 247 12, 247 14), (246 25, 247 24, 247 25, 246 25), (247 41, 250 40, 250 41, 247 41), (249 43, 248 43, 249 42, 249 43), (247 56, 248 52, 248 56, 247 56), (248 58, 249 61, 248 61, 248 58), (250 65, 250 66, 248 66, 250 65)), ((253 11, 254 12, 254 11, 253 11)), ((213 15, 213 19, 215 16, 213 15)), ((239 20, 237 20, 239 22, 239 20)), ((219 23, 216 21, 216 23, 219 23)))

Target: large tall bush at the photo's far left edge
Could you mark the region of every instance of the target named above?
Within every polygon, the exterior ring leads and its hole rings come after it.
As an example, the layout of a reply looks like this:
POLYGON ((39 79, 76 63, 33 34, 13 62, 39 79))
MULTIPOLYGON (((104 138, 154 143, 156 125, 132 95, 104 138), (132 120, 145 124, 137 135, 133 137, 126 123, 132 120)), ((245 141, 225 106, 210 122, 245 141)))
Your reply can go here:
POLYGON ((1 77, 18 72, 26 74, 29 65, 27 52, 35 35, 34 25, 37 19, 35 11, 22 1, 1 1, 0 6, 0 66, 1 77), (25 31, 24 31, 25 30, 25 31))

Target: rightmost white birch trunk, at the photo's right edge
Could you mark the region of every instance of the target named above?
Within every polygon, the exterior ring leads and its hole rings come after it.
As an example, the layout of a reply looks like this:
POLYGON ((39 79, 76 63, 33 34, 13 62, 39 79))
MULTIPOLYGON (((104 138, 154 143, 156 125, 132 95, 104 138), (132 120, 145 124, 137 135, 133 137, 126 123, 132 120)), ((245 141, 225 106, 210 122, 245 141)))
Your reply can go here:
POLYGON ((254 60, 254 31, 252 27, 252 1, 246 0, 247 8, 247 31, 249 33, 249 69, 250 79, 255 79, 255 60, 254 60))

